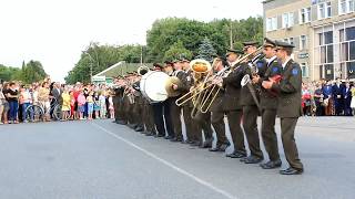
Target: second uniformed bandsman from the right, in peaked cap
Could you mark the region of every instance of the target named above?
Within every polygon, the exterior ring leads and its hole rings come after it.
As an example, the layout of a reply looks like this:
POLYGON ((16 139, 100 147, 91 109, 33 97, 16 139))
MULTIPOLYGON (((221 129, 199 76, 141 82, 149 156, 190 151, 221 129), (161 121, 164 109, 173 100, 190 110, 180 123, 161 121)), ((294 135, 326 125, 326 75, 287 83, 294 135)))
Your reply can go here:
MULTIPOLYGON (((275 42, 265 38, 263 52, 266 62, 263 66, 264 70, 262 70, 265 71, 265 73, 253 76, 254 84, 261 85, 263 81, 281 75, 281 64, 277 61, 275 48, 275 42)), ((262 87, 260 104, 262 107, 262 138, 270 159, 270 161, 261 164, 261 167, 264 169, 273 169, 281 167, 282 164, 277 147, 277 135, 275 133, 277 94, 262 87)))

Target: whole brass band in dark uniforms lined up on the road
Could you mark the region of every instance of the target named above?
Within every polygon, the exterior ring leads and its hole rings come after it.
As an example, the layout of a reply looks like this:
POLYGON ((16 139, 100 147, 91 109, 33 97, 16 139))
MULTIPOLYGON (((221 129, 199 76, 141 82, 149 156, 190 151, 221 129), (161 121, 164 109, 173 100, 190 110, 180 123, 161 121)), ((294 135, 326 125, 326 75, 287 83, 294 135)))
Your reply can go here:
POLYGON ((116 77, 115 123, 146 136, 217 153, 231 146, 225 134, 227 121, 234 150, 226 157, 274 169, 282 166, 275 133, 278 116, 290 165, 280 174, 302 174, 304 168, 294 138, 302 115, 302 70, 291 59, 294 46, 270 39, 265 39, 261 48, 257 42, 243 44, 243 51, 227 50, 225 57, 216 56, 212 64, 181 57, 163 65, 155 63, 153 70, 141 66, 135 73, 116 77), (258 116, 262 137, 258 136, 258 116), (183 124, 186 137, 182 134, 183 124), (213 133, 216 134, 215 146, 212 145, 213 133))

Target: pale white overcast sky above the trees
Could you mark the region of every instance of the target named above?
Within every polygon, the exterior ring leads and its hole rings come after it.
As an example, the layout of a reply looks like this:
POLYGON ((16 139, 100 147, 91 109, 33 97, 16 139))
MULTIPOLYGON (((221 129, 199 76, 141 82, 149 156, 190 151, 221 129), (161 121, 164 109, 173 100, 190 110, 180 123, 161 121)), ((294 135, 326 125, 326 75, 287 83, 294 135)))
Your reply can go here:
POLYGON ((63 81, 91 41, 145 44, 156 19, 262 15, 261 0, 0 0, 0 63, 38 60, 63 81))

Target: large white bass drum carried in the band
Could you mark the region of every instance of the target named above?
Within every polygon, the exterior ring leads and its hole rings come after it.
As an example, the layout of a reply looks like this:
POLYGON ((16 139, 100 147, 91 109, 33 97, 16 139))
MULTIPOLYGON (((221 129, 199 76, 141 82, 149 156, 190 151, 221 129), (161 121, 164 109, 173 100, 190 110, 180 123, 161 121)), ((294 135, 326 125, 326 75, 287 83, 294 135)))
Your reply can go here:
POLYGON ((140 82, 142 95, 152 103, 163 102, 168 98, 165 83, 169 75, 160 71, 150 71, 145 73, 140 82))

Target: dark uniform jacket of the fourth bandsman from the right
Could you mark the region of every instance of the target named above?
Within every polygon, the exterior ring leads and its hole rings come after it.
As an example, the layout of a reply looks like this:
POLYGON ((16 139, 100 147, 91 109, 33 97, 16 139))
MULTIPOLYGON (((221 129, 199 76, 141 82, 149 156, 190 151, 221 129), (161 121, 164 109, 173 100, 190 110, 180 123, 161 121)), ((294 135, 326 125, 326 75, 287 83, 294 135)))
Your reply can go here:
POLYGON ((227 77, 223 78, 224 96, 223 96, 223 109, 235 111, 242 109, 241 106, 241 81, 243 78, 243 67, 237 66, 227 77))

